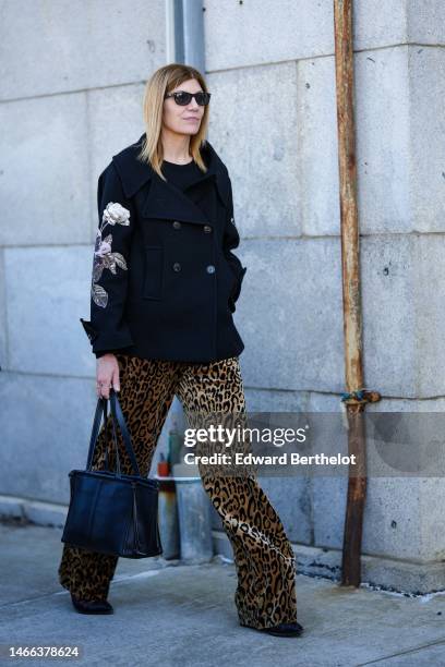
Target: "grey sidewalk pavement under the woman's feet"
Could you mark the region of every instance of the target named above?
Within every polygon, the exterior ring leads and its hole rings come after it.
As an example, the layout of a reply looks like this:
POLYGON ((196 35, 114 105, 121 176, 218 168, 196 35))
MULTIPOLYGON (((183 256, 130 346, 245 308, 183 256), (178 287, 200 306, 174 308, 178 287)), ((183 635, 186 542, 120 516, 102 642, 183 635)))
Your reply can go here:
POLYGON ((421 597, 297 578, 300 638, 241 628, 236 571, 121 558, 111 616, 77 614, 57 579, 61 530, 0 524, 0 665, 409 667, 445 665, 445 593, 421 597), (7 658, 8 645, 73 646, 79 658, 7 658))

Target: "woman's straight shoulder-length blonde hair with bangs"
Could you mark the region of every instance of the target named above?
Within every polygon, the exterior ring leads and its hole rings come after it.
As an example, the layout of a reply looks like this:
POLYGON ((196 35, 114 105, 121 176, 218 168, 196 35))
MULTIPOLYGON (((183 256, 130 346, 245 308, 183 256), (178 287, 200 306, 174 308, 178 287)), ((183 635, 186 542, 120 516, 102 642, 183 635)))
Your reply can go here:
MULTIPOLYGON (((164 181, 160 165, 164 159, 163 143, 160 141, 160 131, 163 128, 163 110, 164 97, 173 88, 181 85, 184 81, 195 78, 201 85, 204 93, 208 93, 206 83, 201 72, 190 65, 182 63, 170 63, 156 70, 156 72, 147 81, 143 100, 143 117, 145 125, 145 140, 143 148, 137 158, 147 162, 159 174, 164 181)), ((204 114, 201 119, 200 130, 196 134, 190 136, 190 151, 193 160, 199 168, 206 172, 207 168, 201 156, 200 148, 205 145, 205 137, 208 128, 208 105, 204 107, 204 114)))

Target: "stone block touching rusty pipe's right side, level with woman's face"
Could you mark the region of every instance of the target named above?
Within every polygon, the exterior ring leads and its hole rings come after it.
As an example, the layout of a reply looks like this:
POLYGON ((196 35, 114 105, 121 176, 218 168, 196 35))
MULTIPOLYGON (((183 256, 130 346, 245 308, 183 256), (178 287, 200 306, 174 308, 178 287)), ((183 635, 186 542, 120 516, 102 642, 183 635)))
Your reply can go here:
POLYGON ((354 57, 357 196, 363 234, 409 232, 411 210, 409 47, 354 57))

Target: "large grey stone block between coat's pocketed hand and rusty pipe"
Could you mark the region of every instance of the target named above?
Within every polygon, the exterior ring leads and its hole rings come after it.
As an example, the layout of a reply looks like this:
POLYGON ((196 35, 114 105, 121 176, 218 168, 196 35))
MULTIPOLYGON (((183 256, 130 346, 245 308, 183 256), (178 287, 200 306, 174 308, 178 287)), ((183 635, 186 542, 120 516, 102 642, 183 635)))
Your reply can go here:
POLYGON ((252 239, 239 256, 249 267, 237 319, 248 387, 341 391, 339 240, 252 239))

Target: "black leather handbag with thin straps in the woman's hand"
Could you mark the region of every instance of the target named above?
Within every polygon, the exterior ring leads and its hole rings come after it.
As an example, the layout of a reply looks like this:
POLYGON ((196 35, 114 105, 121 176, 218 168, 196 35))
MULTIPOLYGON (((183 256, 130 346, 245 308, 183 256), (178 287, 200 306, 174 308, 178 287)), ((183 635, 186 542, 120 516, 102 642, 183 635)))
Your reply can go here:
POLYGON ((101 416, 107 423, 106 398, 97 401, 89 441, 86 470, 69 473, 71 498, 61 542, 92 551, 123 558, 147 558, 163 553, 158 526, 159 483, 142 477, 125 420, 113 389, 110 389, 116 470, 108 469, 108 444, 105 469, 92 470, 101 416), (134 474, 120 471, 118 422, 134 474))

